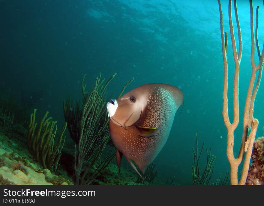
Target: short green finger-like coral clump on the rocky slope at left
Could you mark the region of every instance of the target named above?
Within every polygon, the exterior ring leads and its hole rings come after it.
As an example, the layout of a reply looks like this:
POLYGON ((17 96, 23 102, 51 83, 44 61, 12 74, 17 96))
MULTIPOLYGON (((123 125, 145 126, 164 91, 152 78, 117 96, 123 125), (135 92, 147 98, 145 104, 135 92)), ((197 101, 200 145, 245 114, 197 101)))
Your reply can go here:
POLYGON ((38 160, 38 162, 41 163, 44 168, 48 168, 53 172, 57 172, 58 162, 61 158, 61 150, 65 142, 65 136, 64 139, 62 137, 67 127, 67 122, 64 124, 58 141, 55 144, 55 135, 57 132, 57 126, 55 126, 55 124, 57 123, 57 121, 50 122, 49 120, 51 120, 51 117, 46 119, 49 113, 46 112, 38 125, 38 129, 36 130, 36 110, 37 109, 34 109, 33 114, 30 115, 30 124, 27 139, 29 152, 38 160))

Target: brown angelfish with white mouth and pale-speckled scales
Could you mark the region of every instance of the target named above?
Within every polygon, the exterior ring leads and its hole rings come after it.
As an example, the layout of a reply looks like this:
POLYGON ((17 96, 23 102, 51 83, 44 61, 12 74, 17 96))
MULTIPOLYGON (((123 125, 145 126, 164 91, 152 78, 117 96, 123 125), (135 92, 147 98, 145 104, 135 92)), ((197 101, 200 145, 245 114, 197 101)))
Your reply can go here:
POLYGON ((182 91, 168 84, 145 84, 107 103, 119 169, 124 155, 135 171, 134 163, 144 173, 164 147, 182 104, 182 91))

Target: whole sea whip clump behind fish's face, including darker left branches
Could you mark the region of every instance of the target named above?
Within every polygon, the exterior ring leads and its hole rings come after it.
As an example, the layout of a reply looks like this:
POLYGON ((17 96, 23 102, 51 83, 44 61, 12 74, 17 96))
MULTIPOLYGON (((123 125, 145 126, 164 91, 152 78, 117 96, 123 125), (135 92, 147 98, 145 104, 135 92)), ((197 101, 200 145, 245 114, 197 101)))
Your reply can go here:
MULTIPOLYGON (((99 162, 107 143, 110 141, 105 92, 108 83, 116 74, 117 73, 113 74, 113 76, 103 84, 105 79, 101 80, 100 73, 90 93, 85 91, 86 85, 84 85, 84 75, 82 78, 83 104, 81 109, 79 107, 79 101, 76 103, 75 112, 73 111, 70 98, 67 99, 66 103, 63 102, 64 117, 65 120, 70 122, 68 129, 71 138, 77 144, 74 164, 75 184, 91 184, 115 156, 112 149, 106 157, 99 162), (96 162, 99 162, 99 165, 88 175, 95 167, 96 162)), ((123 87, 122 92, 133 79, 134 78, 123 87)))

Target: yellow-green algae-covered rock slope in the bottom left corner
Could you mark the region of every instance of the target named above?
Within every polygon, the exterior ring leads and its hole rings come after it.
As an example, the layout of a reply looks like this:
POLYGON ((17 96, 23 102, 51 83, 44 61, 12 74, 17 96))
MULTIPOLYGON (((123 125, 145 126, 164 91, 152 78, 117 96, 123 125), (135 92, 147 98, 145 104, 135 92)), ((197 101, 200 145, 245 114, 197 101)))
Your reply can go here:
POLYGON ((70 180, 43 169, 26 147, 0 133, 0 185, 69 185, 70 180))

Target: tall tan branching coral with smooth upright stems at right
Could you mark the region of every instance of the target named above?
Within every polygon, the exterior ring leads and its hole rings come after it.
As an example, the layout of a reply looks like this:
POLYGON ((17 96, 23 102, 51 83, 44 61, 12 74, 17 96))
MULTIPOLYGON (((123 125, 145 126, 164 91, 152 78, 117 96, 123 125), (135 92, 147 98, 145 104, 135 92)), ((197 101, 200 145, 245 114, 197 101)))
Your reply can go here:
POLYGON ((219 4, 219 12, 220 12, 220 32, 221 32, 221 40, 222 40, 222 54, 223 54, 223 63, 224 63, 224 86, 223 86, 223 120, 227 129, 227 147, 226 147, 226 155, 230 164, 230 181, 231 184, 244 185, 249 169, 250 157, 253 149, 254 139, 256 137, 256 130, 258 127, 258 120, 253 117, 253 108, 254 102, 256 98, 256 93, 259 88, 259 83, 262 74, 263 68, 263 60, 264 60, 264 45, 262 48, 262 54, 260 53, 259 44, 258 44, 258 8, 256 9, 256 37, 254 36, 254 28, 253 28, 253 5, 252 0, 249 1, 250 4, 250 32, 251 32, 251 55, 250 62, 252 66, 252 73, 250 77, 250 82, 247 90, 246 102, 244 107, 244 117, 243 117, 243 133, 241 138, 240 150, 237 158, 234 156, 234 131, 238 126, 239 122, 239 105, 238 105, 238 77, 239 77, 239 66, 241 62, 242 56, 242 38, 241 38, 241 29, 238 20, 238 12, 236 1, 234 0, 234 10, 235 10, 235 19, 236 25, 238 29, 238 53, 235 43, 235 35, 234 28, 232 22, 232 2, 229 0, 229 28, 230 35, 232 41, 232 50, 233 57, 235 61, 235 75, 234 75, 234 87, 233 87, 233 112, 234 112, 234 120, 231 123, 229 120, 229 111, 228 111, 228 99, 227 99, 227 88, 228 88, 228 66, 227 66, 227 32, 223 32, 223 13, 221 8, 220 0, 218 0, 219 4), (255 41, 256 38, 256 41, 255 41), (257 53, 259 57, 259 63, 256 65, 254 60, 255 46, 257 48, 257 53), (257 75, 258 74, 258 75, 257 75), (256 83, 255 83, 255 80, 256 83), (242 162, 243 158, 243 169, 241 174, 241 179, 238 181, 238 166, 242 162))

